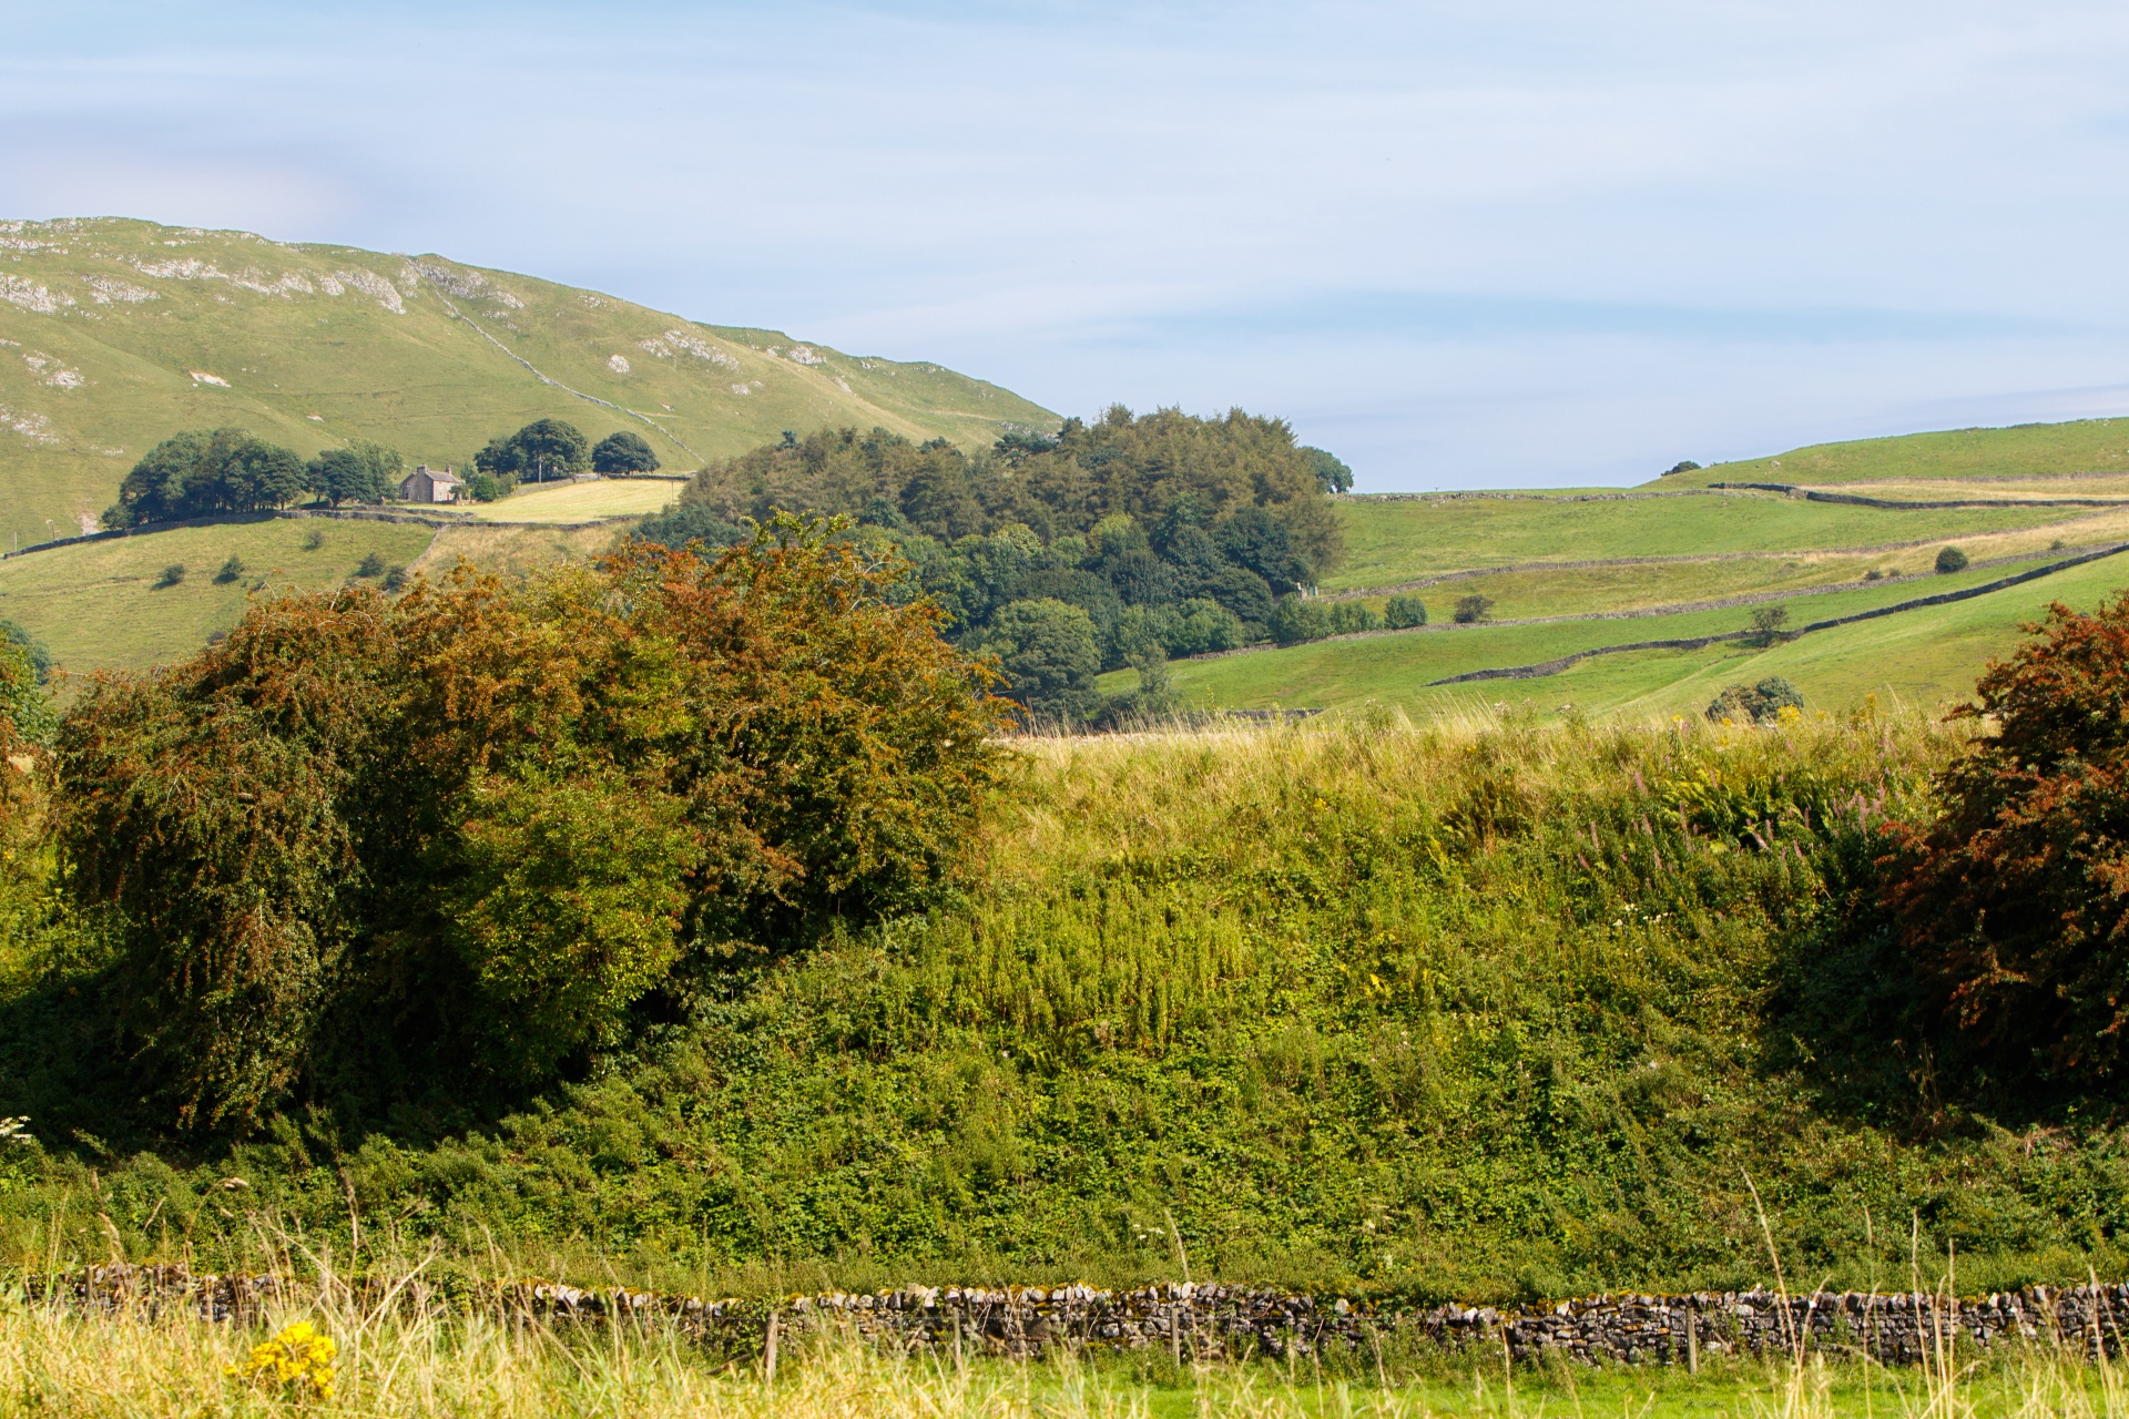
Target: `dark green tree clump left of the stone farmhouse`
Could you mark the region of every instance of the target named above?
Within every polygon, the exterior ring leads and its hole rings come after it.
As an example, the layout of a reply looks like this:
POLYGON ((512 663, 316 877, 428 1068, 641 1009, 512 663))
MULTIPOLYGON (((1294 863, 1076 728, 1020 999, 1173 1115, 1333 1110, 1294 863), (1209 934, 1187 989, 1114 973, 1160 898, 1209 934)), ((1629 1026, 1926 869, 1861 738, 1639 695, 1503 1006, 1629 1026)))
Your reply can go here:
POLYGON ((358 440, 304 460, 251 430, 185 430, 164 438, 132 466, 102 525, 141 528, 179 517, 255 513, 315 496, 379 502, 405 472, 396 449, 358 440))

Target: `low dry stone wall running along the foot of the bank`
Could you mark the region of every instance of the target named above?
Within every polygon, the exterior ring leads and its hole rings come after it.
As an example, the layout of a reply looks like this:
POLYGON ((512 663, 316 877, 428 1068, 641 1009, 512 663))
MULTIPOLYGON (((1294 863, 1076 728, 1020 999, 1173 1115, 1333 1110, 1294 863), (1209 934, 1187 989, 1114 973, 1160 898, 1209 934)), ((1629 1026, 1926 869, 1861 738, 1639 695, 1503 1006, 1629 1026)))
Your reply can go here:
MULTIPOLYGON (((23 1281, 30 1300, 70 1308, 183 1311, 213 1321, 255 1321, 311 1291, 275 1276, 196 1274, 179 1266, 92 1266, 23 1281)), ((1326 1351, 1441 1347, 1507 1355, 1518 1364, 1697 1366, 1716 1355, 1871 1355, 1918 1364, 1954 1349, 1999 1345, 2123 1353, 2129 1285, 2025 1287, 1978 1298, 1929 1293, 1699 1291, 1592 1296, 1546 1306, 1412 1304, 1394 1296, 1318 1298, 1220 1283, 1128 1291, 1060 1287, 903 1287, 826 1291, 781 1302, 703 1300, 628 1287, 583 1289, 522 1281, 424 1293, 358 1283, 413 1302, 492 1306, 554 1323, 660 1317, 735 1353, 786 1338, 847 1330, 886 1349, 1035 1355, 1052 1347, 1167 1349, 1177 1359, 1273 1359, 1326 1351)), ((788 1342, 788 1340, 786 1340, 788 1342)))

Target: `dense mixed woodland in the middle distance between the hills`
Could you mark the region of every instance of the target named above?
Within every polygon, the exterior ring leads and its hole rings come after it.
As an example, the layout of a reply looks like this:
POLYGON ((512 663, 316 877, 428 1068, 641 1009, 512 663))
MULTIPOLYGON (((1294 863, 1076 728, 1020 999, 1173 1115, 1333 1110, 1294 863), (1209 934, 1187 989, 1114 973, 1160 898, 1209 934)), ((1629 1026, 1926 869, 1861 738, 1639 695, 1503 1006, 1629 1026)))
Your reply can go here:
POLYGON ((907 557, 909 594, 994 653, 1028 711, 1088 721, 1101 670, 1139 666, 1133 708, 1154 708, 1167 657, 1380 623, 1301 596, 1343 553, 1328 494, 1350 485, 1282 419, 1116 406, 975 457, 888 430, 788 432, 703 468, 639 536, 722 545, 779 508, 843 515, 854 542, 907 557))

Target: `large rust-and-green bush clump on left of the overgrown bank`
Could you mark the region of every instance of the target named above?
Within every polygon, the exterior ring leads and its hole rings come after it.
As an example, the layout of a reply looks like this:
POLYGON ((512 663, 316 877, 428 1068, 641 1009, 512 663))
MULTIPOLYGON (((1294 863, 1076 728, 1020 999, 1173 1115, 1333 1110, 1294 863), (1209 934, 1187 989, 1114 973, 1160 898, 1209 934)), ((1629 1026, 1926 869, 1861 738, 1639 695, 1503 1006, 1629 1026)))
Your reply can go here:
POLYGON ((60 847, 143 1087, 247 1125, 392 1062, 534 1083, 688 972, 922 906, 999 715, 901 574, 781 521, 715 562, 264 600, 94 685, 60 847))

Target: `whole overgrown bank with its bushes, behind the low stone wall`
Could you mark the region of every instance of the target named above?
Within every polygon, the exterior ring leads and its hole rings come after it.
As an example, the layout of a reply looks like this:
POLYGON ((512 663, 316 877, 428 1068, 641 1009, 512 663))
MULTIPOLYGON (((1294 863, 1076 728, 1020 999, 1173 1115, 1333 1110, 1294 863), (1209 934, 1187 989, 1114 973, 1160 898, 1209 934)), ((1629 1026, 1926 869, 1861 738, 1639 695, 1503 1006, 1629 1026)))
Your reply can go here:
POLYGON ((2129 604, 1986 721, 1092 740, 941 623, 783 521, 13 713, 0 1251, 1486 1300, 1754 1281, 1756 1187, 1814 1281, 2123 1268, 2129 604))

